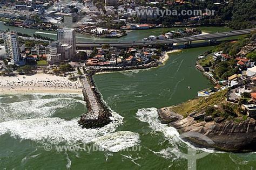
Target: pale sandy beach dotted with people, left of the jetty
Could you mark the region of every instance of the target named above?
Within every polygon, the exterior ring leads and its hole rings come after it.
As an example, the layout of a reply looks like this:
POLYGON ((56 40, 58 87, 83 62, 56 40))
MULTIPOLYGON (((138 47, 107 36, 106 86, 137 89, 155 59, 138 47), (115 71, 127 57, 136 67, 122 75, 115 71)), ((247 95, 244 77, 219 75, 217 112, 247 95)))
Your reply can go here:
POLYGON ((35 75, 0 76, 0 94, 18 93, 82 93, 79 81, 70 81, 44 73, 35 75))

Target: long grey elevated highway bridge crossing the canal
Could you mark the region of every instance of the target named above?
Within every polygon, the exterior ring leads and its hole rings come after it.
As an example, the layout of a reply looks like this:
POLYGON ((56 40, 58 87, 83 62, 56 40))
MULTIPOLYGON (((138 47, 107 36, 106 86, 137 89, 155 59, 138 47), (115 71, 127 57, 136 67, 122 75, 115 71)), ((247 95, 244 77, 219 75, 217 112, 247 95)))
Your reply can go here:
POLYGON ((77 47, 101 47, 103 45, 109 45, 112 47, 132 47, 132 46, 147 46, 156 44, 173 44, 178 42, 190 42, 198 40, 217 40, 226 37, 240 36, 243 34, 251 33, 256 29, 237 30, 230 32, 221 32, 213 34, 203 34, 191 37, 166 39, 166 40, 153 40, 153 41, 133 41, 133 42, 77 42, 77 47))

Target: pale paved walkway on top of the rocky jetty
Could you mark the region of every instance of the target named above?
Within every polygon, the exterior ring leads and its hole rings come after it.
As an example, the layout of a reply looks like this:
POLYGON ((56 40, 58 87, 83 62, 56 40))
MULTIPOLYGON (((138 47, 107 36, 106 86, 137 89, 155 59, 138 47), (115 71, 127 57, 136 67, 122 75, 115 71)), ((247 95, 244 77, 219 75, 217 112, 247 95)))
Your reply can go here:
POLYGON ((87 98, 87 105, 90 105, 88 108, 88 113, 85 115, 86 120, 97 120, 99 118, 99 104, 96 100, 96 96, 92 91, 92 87, 90 86, 86 77, 81 79, 84 89, 83 94, 85 98, 87 98))

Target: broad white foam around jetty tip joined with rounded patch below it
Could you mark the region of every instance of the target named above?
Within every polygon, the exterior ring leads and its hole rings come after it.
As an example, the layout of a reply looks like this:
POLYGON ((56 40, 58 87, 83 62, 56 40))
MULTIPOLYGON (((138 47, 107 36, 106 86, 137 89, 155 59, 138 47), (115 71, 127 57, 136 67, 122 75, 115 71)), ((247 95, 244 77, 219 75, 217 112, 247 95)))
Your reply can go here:
POLYGON ((25 119, 0 123, 0 135, 9 133, 12 137, 33 141, 69 145, 95 143, 103 151, 118 152, 138 145, 139 134, 130 131, 114 132, 123 117, 112 113, 117 121, 100 129, 82 129, 77 119, 64 121, 60 118, 25 119))

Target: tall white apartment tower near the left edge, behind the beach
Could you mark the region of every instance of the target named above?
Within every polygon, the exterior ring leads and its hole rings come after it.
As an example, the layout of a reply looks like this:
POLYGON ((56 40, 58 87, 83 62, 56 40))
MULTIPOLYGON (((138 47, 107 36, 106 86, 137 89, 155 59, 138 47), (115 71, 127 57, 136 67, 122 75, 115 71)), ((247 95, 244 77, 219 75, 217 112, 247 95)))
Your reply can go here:
POLYGON ((19 63, 21 54, 19 53, 17 33, 14 31, 3 33, 3 40, 8 58, 14 60, 14 63, 19 63))

